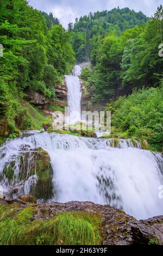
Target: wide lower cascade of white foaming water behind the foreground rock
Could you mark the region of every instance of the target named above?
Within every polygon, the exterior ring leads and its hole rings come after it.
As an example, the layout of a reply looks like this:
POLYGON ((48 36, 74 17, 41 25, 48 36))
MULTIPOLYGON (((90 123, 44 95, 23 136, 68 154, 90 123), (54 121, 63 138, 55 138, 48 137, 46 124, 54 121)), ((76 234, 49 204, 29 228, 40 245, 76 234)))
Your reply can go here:
MULTIPOLYGON (((158 188, 163 184, 162 155, 134 148, 130 140, 121 139, 118 148, 110 147, 110 143, 111 139, 28 132, 27 137, 9 141, 0 148, 0 185, 8 191, 9 181, 2 176, 2 170, 13 159, 18 161, 24 145, 30 149, 42 147, 51 157, 54 201, 109 204, 137 219, 163 214, 158 196, 158 188)), ((10 185, 20 182, 19 171, 16 162, 10 185)), ((37 181, 35 175, 33 178, 26 181, 25 191, 30 191, 30 184, 37 181)))

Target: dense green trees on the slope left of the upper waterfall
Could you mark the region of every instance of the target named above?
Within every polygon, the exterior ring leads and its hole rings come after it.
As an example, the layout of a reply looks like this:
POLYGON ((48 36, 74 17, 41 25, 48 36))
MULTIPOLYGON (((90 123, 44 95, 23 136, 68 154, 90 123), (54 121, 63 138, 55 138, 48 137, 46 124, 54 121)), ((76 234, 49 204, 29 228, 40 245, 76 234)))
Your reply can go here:
POLYGON ((52 14, 34 10, 25 0, 0 2, 1 136, 31 127, 21 106, 29 91, 55 98, 55 86, 75 63, 69 38, 52 14))

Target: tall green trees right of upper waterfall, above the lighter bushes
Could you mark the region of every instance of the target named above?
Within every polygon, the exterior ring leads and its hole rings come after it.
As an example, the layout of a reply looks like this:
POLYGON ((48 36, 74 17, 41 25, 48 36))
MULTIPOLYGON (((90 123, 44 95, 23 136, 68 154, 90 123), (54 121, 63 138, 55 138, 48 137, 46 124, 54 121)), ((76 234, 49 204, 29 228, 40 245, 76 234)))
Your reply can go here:
POLYGON ((160 5, 147 25, 138 22, 136 25, 141 26, 126 27, 126 30, 120 25, 121 33, 112 30, 98 38, 92 37, 92 69, 83 79, 93 103, 129 95, 135 88, 160 85, 163 58, 158 55, 158 47, 163 35, 162 11, 160 5))

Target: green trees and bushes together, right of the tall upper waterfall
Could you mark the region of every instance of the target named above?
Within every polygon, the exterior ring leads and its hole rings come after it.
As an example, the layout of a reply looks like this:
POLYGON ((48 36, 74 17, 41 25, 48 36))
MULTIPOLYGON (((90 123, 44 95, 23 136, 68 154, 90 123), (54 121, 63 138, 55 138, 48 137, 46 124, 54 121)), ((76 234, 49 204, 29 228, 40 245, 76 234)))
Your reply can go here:
POLYGON ((99 36, 91 51, 91 66, 81 75, 90 105, 110 102, 106 109, 112 111, 112 130, 147 139, 156 150, 163 148, 163 58, 159 57, 162 28, 160 6, 146 25, 126 29, 119 35, 111 31, 99 36))

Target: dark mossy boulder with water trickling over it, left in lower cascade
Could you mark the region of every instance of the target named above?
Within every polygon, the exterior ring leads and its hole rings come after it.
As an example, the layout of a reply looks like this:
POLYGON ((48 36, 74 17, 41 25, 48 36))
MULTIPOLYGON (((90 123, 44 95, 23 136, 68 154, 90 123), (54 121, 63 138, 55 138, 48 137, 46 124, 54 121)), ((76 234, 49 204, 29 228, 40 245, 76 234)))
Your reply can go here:
POLYGON ((5 164, 0 180, 8 180, 12 187, 16 184, 23 184, 33 175, 37 175, 37 181, 31 185, 30 194, 36 199, 52 197, 53 169, 47 151, 42 148, 31 149, 29 145, 23 145, 20 148, 20 154, 13 155, 12 161, 5 164))

